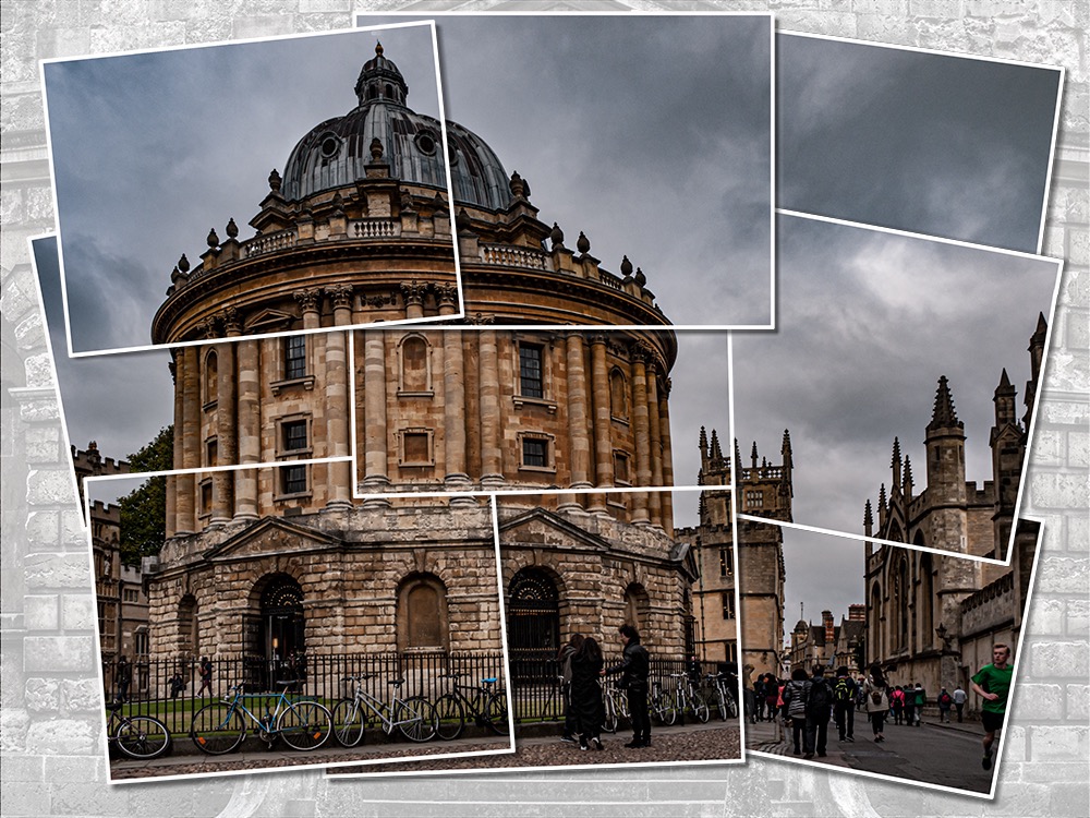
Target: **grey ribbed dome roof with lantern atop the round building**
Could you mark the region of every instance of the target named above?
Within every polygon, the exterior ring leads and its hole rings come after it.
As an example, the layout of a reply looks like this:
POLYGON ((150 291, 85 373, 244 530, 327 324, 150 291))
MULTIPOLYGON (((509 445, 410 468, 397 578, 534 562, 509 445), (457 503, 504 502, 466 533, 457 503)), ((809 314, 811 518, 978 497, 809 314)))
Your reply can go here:
MULTIPOLYGON (((383 145, 382 161, 389 164, 392 177, 445 191, 439 121, 405 105, 409 86, 398 67, 384 56, 382 44, 364 63, 355 94, 359 105, 354 109, 315 125, 292 149, 281 194, 299 201, 365 177, 365 167, 374 161, 371 145, 375 139, 383 145)), ((507 172, 484 140, 448 120, 447 143, 455 201, 493 210, 507 207, 507 172)))

